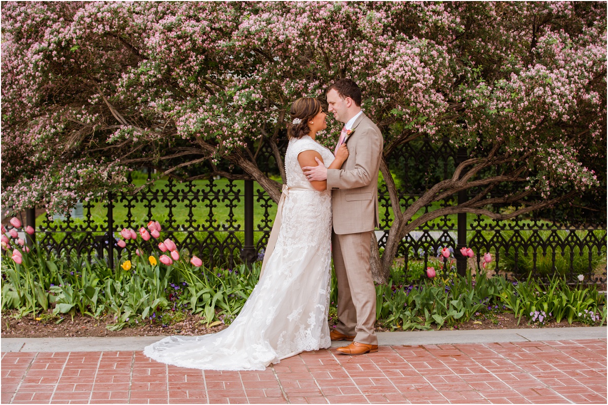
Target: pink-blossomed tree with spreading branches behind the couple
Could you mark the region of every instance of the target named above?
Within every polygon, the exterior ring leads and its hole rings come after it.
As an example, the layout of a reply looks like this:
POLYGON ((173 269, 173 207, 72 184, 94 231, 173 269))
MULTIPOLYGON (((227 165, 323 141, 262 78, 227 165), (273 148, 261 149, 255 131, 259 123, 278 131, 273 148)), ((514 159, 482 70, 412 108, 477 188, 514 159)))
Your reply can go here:
MULTIPOLYGON (((224 161, 278 201, 257 164, 261 147, 282 162, 291 102, 324 99, 341 77, 362 87, 385 156, 421 136, 469 153, 406 208, 383 162, 395 219, 377 279, 399 241, 430 219, 508 219, 598 187, 599 2, 5 2, 3 205, 66 209, 124 187, 136 166, 184 180, 201 165, 233 176, 224 161), (497 197, 497 187, 508 191, 497 197), (461 190, 475 194, 412 220, 461 190), (517 209, 486 209, 499 203, 517 209)), ((338 130, 321 141, 332 146, 338 130)))

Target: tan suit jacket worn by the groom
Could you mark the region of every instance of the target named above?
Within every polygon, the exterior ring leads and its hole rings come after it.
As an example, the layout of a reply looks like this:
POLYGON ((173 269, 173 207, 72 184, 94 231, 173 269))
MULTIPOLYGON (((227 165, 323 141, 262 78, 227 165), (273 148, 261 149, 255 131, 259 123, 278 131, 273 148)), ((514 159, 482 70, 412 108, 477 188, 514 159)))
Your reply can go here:
POLYGON ((378 227, 378 171, 384 141, 365 114, 354 121, 348 136, 348 159, 341 169, 327 170, 331 189, 334 232, 359 233, 378 227))

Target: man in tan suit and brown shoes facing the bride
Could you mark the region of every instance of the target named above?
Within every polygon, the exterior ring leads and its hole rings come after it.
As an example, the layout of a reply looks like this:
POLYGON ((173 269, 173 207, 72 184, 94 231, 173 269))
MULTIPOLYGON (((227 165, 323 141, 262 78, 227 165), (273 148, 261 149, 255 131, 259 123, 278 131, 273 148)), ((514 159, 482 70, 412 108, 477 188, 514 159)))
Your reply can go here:
POLYGON ((308 181, 327 180, 332 190, 332 255, 338 284, 338 324, 331 340, 353 343, 339 347, 346 355, 378 351, 374 332, 376 289, 371 278, 371 237, 378 226, 378 170, 384 141, 378 127, 361 111, 361 90, 351 79, 339 79, 327 91, 328 111, 344 122, 337 148, 344 142, 348 159, 340 169, 306 166, 308 181))

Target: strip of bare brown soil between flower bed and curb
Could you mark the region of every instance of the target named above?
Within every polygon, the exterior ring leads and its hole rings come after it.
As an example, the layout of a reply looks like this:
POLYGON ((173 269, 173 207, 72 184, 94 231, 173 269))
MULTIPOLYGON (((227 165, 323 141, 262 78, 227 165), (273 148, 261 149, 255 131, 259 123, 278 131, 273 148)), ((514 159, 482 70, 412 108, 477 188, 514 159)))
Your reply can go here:
MULTIPOLYGON (((75 315, 74 319, 67 315, 63 320, 52 316, 50 311, 38 319, 32 316, 24 316, 17 319, 16 311, 2 313, 2 338, 65 338, 65 337, 90 337, 90 336, 161 336, 161 335, 204 335, 215 333, 227 327, 225 324, 207 327, 203 318, 196 315, 187 315, 182 321, 169 325, 154 322, 131 323, 121 330, 108 330, 106 325, 114 323, 111 318, 94 319, 90 316, 75 315), (57 322, 60 323, 57 323, 57 322)), ((330 326, 333 326, 330 324, 330 326)), ((477 320, 466 323, 458 323, 454 327, 443 327, 441 330, 480 330, 480 329, 518 329, 537 327, 572 327, 585 326, 575 322, 572 325, 566 321, 556 323, 550 321, 546 325, 528 324, 522 319, 517 323, 513 314, 500 313, 481 315, 477 320)), ((382 324, 376 324, 376 332, 389 332, 382 324)))

